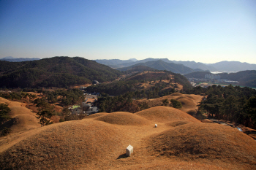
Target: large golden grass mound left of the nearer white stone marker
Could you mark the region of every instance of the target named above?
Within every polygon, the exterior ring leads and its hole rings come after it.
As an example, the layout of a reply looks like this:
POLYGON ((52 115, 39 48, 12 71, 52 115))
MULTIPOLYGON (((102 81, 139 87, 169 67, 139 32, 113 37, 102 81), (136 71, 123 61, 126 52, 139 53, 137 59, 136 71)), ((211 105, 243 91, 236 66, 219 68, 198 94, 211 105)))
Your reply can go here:
POLYGON ((99 121, 47 125, 1 152, 0 169, 78 169, 91 161, 108 160, 124 148, 125 139, 122 131, 99 121))

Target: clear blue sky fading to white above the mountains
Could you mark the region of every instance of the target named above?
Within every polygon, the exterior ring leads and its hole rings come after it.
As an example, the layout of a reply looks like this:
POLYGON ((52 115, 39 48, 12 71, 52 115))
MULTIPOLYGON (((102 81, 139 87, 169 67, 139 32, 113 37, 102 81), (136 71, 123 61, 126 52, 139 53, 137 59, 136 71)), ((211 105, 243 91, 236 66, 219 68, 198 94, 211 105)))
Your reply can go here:
POLYGON ((256 63, 256 1, 0 0, 0 58, 256 63))

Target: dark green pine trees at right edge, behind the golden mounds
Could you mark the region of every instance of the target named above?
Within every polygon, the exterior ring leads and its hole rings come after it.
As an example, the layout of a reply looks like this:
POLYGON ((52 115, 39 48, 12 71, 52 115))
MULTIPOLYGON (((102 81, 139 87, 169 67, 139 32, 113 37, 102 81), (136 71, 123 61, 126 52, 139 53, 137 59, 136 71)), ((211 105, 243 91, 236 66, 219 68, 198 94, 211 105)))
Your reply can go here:
POLYGON ((207 112, 216 119, 256 127, 256 90, 252 88, 222 87, 212 85, 208 88, 197 86, 187 93, 206 95, 199 104, 200 112, 207 112))

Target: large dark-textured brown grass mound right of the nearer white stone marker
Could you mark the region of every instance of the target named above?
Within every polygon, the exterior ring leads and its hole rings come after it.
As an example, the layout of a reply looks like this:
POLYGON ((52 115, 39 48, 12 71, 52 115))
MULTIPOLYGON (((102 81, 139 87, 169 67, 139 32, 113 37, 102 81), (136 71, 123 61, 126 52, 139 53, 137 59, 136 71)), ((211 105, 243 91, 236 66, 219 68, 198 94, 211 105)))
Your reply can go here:
POLYGON ((230 126, 188 123, 151 136, 148 150, 178 158, 204 158, 256 169, 256 142, 230 126))

